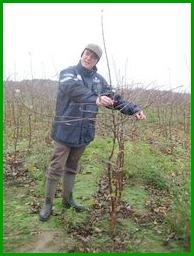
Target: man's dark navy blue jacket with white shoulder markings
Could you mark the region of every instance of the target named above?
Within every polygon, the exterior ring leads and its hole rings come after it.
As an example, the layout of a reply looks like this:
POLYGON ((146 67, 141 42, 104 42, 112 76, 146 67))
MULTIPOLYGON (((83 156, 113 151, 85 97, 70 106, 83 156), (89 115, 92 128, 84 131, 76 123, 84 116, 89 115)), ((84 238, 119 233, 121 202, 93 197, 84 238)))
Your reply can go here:
POLYGON ((71 147, 89 144, 95 136, 95 119, 98 112, 96 99, 107 95, 115 100, 114 109, 132 115, 140 108, 114 95, 97 69, 87 70, 81 63, 60 73, 56 102, 56 115, 51 137, 71 147))

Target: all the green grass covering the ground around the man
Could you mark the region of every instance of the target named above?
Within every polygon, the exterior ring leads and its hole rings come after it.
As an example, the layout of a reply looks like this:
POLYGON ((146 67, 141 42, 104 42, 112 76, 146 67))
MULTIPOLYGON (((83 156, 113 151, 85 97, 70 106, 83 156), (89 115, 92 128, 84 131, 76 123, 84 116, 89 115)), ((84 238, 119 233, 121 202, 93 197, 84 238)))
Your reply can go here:
MULTIPOLYGON (((106 174, 106 160, 111 149, 111 139, 97 137, 86 149, 81 160, 81 170, 77 175, 75 185, 75 199, 91 209, 94 203, 94 195, 98 189, 98 181, 106 174)), ((28 169, 29 176, 34 184, 29 187, 7 186, 4 188, 4 251, 22 252, 46 249, 36 247, 42 236, 50 237, 48 248, 51 252, 67 252, 73 248, 81 248, 83 244, 68 233, 74 227, 83 228, 87 223, 88 213, 77 214, 72 209, 61 208, 60 195, 54 200, 54 216, 49 221, 42 223, 38 214, 30 214, 31 202, 36 200, 42 205, 44 200, 44 173, 52 154, 52 146, 34 145, 31 154, 26 154, 24 167, 28 169), (44 152, 44 154, 42 154, 44 152), (53 236, 53 238, 52 238, 53 236), (57 237, 54 239, 54 237, 57 237), (60 237, 60 239, 59 239, 60 237), (34 248, 34 249, 33 249, 34 248)), ((134 218, 122 219, 117 230, 122 231, 128 237, 125 248, 128 252, 184 252, 189 250, 189 194, 187 175, 180 171, 180 166, 189 172, 189 165, 185 165, 181 158, 161 155, 160 151, 154 151, 149 145, 135 142, 126 144, 125 149, 125 173, 128 180, 124 186, 122 200, 132 206, 139 215, 149 214, 147 202, 153 201, 156 206, 162 206, 169 194, 172 200, 172 209, 159 225, 145 223, 139 225, 134 218), (180 163, 182 165, 180 165, 180 163), (172 182, 171 174, 176 176, 176 182, 172 182), (182 192, 180 191, 179 182, 182 192), (169 184, 171 186, 169 186, 169 184), (153 191, 147 190, 147 186, 153 191), (187 197, 185 193, 188 193, 187 197), (181 200, 184 203, 181 204, 181 200), (176 218, 176 220, 175 220, 176 218), (182 228, 181 228, 182 227, 182 228), (187 228, 183 228, 187 227, 187 228), (177 233, 177 239, 170 240, 165 245, 170 232, 177 233)), ((59 185, 60 187, 60 185, 59 185)), ((104 215, 95 223, 95 227, 102 230, 100 235, 92 235, 89 246, 96 251, 109 252, 113 248, 113 240, 109 233, 109 216, 104 215)), ((46 245, 45 245, 46 246, 46 245)))

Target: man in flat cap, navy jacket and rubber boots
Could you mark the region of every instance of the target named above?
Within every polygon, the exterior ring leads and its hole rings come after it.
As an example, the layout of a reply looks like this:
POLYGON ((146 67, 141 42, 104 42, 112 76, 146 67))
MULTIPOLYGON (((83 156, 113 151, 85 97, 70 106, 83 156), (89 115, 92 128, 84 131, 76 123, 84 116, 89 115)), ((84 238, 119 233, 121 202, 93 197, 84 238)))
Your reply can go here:
POLYGON ((114 95, 106 80, 97 73, 96 64, 101 56, 102 50, 98 45, 88 44, 78 65, 60 73, 52 129, 55 148, 46 172, 45 203, 39 216, 41 221, 46 221, 52 213, 56 186, 62 176, 62 206, 73 207, 77 212, 85 210, 74 201, 73 187, 80 157, 95 136, 95 118, 99 106, 134 115, 137 119, 145 118, 137 105, 114 95))

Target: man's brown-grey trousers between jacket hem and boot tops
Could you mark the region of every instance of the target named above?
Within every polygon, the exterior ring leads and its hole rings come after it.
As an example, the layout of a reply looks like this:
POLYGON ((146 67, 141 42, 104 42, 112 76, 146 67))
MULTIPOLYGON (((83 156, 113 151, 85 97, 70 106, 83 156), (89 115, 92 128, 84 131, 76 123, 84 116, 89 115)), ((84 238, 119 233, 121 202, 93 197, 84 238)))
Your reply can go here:
POLYGON ((68 147, 58 142, 54 143, 54 153, 46 177, 58 181, 64 173, 77 174, 79 160, 86 146, 68 147))

